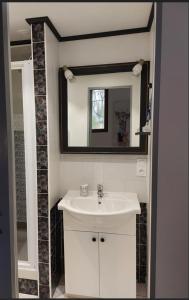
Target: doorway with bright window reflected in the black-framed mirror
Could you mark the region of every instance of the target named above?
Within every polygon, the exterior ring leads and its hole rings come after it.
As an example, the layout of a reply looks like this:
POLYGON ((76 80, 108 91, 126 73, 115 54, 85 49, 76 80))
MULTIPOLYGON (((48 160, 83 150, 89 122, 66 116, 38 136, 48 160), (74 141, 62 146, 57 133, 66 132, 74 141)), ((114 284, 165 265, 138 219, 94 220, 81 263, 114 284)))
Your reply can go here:
POLYGON ((132 88, 91 89, 89 94, 89 146, 130 147, 132 88))

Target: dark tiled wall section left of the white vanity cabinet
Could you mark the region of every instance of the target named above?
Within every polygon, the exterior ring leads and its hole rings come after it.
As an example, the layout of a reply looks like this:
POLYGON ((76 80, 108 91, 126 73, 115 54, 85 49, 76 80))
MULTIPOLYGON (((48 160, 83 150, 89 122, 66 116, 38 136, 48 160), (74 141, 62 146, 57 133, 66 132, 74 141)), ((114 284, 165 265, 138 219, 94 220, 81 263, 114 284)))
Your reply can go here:
POLYGON ((61 275, 64 273, 63 213, 57 209, 57 203, 51 209, 51 286, 52 296, 61 275))

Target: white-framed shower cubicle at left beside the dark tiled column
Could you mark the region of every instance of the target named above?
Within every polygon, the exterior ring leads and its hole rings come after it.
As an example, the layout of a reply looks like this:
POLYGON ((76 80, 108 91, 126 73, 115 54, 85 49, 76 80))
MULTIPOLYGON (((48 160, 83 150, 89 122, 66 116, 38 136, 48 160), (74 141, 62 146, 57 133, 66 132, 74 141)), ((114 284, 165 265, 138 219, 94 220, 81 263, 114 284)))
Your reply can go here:
POLYGON ((31 60, 11 63, 18 274, 37 265, 36 122, 31 60))

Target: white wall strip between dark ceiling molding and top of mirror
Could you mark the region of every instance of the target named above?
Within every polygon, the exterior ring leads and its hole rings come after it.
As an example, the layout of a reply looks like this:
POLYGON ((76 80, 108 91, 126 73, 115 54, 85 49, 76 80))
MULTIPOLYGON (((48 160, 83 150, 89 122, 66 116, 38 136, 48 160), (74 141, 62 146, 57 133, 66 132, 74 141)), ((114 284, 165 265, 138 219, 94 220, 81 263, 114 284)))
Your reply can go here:
POLYGON ((150 58, 149 33, 60 43, 59 64, 95 65, 150 58))

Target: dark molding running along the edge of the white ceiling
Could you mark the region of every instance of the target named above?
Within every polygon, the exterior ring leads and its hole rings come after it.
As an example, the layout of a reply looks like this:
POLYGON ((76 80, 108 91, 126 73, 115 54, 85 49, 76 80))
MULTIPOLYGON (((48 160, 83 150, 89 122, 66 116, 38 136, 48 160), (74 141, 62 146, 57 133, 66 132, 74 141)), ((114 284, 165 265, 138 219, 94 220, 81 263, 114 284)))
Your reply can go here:
MULTIPOLYGON (((79 34, 79 35, 71 35, 71 36, 61 36, 58 30, 55 28, 49 17, 37 17, 37 18, 28 18, 26 22, 31 24, 36 23, 46 23, 50 30, 54 33, 57 41, 59 42, 69 42, 69 41, 77 41, 77 40, 86 40, 86 39, 95 39, 102 37, 110 37, 110 36, 119 36, 119 35, 127 35, 127 34, 137 34, 143 32, 149 32, 151 30, 152 22, 154 19, 154 3, 152 5, 147 26, 138 27, 138 28, 130 28, 130 29, 122 29, 122 30, 113 30, 113 31, 104 31, 104 32, 96 32, 96 33, 88 33, 88 34, 79 34)), ((11 46, 21 46, 31 44, 30 40, 20 40, 20 41, 12 41, 11 46)))

